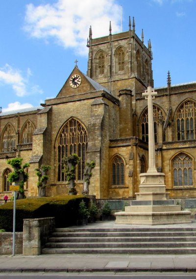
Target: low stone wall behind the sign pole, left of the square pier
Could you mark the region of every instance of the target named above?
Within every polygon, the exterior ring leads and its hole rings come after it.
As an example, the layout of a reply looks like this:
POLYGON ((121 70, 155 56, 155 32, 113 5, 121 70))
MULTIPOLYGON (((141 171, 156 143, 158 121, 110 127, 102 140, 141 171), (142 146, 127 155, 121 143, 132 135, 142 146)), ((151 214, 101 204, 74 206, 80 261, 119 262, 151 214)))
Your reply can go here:
MULTIPOLYGON (((23 232, 16 232, 15 235, 15 253, 23 253, 23 232)), ((12 254, 13 251, 13 233, 0 232, 0 255, 12 254)))

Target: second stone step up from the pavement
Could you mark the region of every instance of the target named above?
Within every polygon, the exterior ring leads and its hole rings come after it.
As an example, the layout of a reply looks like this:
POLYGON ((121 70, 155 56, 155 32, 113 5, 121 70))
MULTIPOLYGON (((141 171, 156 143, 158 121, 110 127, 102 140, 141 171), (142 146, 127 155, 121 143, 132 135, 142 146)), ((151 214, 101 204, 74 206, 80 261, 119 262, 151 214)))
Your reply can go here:
POLYGON ((48 242, 45 246, 46 248, 70 248, 70 249, 79 249, 79 248, 185 248, 196 247, 196 242, 48 242))

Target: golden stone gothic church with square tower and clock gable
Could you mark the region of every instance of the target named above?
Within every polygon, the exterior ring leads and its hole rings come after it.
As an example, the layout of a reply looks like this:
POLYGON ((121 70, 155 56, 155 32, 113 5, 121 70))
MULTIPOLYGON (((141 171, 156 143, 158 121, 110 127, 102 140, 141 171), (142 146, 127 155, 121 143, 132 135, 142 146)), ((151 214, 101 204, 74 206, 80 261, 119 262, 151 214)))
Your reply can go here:
MULTIPOLYGON (((94 39, 90 28, 87 74, 76 65, 53 99, 40 107, 0 113, 0 196, 9 196, 8 158, 28 167, 26 196, 37 196, 35 168, 50 165, 47 195, 65 195, 62 158, 80 157, 76 189, 82 193, 85 162, 96 167, 89 194, 134 198, 148 165, 147 100, 153 87, 151 43, 129 30, 94 39)), ((71 69, 72 70, 72 69, 71 69)), ((182 81, 183 82, 183 81, 182 81)), ((165 173, 171 197, 196 197, 196 82, 155 88, 153 100, 156 167, 165 173)))

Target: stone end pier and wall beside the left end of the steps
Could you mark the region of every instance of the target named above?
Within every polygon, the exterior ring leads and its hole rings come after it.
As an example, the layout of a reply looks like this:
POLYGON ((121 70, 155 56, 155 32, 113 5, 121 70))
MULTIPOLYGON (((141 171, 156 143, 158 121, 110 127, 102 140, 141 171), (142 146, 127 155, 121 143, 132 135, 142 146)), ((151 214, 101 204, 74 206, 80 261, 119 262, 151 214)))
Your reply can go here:
POLYGON ((24 219, 23 254, 40 255, 50 233, 55 229, 54 217, 24 219))

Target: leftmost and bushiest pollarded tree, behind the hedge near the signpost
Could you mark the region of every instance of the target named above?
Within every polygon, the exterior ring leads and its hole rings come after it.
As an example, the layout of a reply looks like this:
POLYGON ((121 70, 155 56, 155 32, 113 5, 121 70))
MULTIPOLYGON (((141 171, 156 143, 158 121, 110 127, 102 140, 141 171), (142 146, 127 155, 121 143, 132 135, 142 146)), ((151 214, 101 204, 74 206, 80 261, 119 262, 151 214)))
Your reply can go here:
POLYGON ((23 158, 13 158, 8 159, 7 164, 14 168, 14 171, 10 172, 8 175, 8 181, 14 182, 15 185, 19 185, 19 199, 25 197, 24 184, 28 180, 27 167, 29 163, 25 163, 22 166, 23 158))

